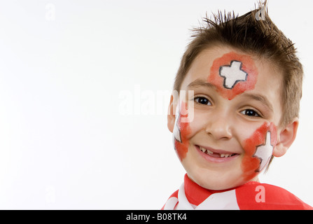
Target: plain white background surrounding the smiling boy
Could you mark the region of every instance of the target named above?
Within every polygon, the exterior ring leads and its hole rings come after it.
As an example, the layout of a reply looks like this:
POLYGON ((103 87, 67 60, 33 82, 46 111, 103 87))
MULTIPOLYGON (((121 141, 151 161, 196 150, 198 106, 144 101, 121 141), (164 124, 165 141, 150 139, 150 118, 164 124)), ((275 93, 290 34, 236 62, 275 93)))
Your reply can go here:
MULTIPOLYGON (((166 112, 190 29, 255 2, 1 0, 0 209, 160 209, 185 174, 166 112)), ((260 181, 312 205, 313 2, 268 8, 306 77, 298 137, 260 181)))

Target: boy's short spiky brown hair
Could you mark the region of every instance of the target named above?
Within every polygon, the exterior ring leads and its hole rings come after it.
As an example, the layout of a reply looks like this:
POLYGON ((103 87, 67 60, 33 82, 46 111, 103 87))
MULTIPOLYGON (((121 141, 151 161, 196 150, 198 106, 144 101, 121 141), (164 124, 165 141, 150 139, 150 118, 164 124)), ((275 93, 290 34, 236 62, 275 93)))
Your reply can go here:
POLYGON ((279 125, 285 127, 299 116, 302 96, 302 64, 295 55, 295 47, 282 31, 270 20, 267 1, 258 2, 255 10, 242 16, 218 11, 212 19, 203 19, 204 25, 193 29, 193 40, 183 54, 176 73, 174 90, 181 83, 193 60, 202 50, 214 45, 227 45, 272 62, 283 73, 281 105, 283 114, 279 125))

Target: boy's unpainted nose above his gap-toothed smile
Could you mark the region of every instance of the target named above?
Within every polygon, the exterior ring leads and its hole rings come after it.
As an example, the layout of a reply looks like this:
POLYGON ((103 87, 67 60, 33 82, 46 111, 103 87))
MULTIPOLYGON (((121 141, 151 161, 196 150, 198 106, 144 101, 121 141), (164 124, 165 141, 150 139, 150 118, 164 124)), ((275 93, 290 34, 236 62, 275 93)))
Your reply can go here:
POLYGON ((206 132, 216 140, 232 138, 231 118, 227 113, 211 114, 206 132))

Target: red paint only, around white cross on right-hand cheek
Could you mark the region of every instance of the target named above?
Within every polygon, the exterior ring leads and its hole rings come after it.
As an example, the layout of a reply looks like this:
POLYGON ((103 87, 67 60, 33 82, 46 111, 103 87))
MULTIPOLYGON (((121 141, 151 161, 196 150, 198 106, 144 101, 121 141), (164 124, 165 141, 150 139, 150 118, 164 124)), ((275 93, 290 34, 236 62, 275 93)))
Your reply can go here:
POLYGON ((242 158, 242 171, 244 172, 244 180, 249 181, 256 176, 256 170, 260 166, 260 160, 253 157, 256 153, 256 147, 265 143, 267 132, 271 133, 270 144, 275 148, 277 144, 277 130, 273 123, 264 123, 260 126, 249 139, 244 141, 244 158, 242 158))

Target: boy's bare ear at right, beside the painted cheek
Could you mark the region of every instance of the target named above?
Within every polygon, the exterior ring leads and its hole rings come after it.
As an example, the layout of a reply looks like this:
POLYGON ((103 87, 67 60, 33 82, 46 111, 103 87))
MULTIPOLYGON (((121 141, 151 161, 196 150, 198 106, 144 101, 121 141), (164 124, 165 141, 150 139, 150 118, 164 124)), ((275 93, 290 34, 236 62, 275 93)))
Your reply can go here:
POLYGON ((274 148, 274 157, 280 157, 286 153, 288 148, 295 141, 299 125, 299 119, 295 118, 292 123, 287 125, 283 130, 281 130, 278 138, 277 144, 274 148))

